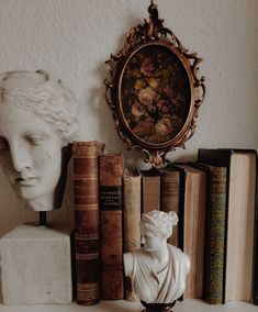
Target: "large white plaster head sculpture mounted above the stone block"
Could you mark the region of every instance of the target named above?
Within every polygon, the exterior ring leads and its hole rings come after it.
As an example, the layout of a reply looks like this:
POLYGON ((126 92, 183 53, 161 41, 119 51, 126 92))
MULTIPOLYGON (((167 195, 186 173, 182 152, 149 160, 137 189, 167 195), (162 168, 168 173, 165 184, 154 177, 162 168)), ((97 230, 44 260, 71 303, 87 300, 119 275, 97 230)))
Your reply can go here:
POLYGON ((0 164, 34 211, 61 205, 77 101, 44 70, 0 75, 0 164))

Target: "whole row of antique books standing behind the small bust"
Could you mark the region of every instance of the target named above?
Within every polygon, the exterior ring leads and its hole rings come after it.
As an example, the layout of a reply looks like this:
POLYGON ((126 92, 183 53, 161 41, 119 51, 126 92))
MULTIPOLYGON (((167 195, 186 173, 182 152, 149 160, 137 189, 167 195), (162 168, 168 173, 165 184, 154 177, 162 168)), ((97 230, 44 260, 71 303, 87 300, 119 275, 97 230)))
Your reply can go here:
POLYGON ((123 253, 141 247, 143 212, 173 210, 170 244, 191 258, 183 298, 258 304, 257 154, 199 149, 194 163, 124 169, 99 142, 72 145, 77 302, 134 300, 123 253))

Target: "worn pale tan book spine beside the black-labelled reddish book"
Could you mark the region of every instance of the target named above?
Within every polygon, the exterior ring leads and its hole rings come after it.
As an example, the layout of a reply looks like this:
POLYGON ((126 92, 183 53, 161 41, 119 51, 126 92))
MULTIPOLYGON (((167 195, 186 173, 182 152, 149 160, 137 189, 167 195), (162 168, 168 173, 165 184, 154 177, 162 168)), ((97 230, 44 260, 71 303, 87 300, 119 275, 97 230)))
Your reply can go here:
MULTIPOLYGON (((141 175, 138 170, 125 169, 123 176, 123 233, 124 253, 134 252, 141 247, 141 175)), ((132 289, 130 277, 125 277, 124 297, 128 301, 138 299, 132 289)))

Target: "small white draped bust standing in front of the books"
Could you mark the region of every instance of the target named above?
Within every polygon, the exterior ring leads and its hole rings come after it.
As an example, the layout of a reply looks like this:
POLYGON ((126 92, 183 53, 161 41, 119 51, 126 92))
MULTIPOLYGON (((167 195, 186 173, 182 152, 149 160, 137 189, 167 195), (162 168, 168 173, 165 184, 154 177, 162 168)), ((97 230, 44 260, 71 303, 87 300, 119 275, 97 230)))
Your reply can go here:
POLYGON ((173 303, 186 289, 190 259, 167 244, 177 223, 173 211, 144 213, 139 224, 143 247, 124 254, 125 276, 131 277, 133 289, 145 303, 173 303))

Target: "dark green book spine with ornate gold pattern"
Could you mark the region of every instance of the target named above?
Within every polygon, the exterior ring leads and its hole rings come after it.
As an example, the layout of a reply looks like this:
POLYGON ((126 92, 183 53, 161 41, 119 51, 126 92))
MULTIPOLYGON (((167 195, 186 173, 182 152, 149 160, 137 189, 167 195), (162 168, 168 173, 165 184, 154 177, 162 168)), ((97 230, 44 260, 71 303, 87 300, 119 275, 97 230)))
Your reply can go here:
POLYGON ((224 303, 226 168, 211 167, 206 212, 204 300, 224 303))

